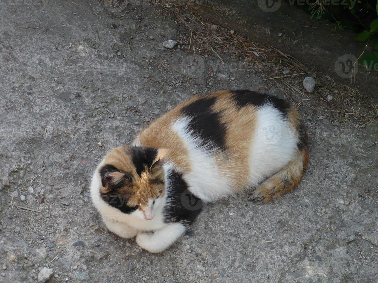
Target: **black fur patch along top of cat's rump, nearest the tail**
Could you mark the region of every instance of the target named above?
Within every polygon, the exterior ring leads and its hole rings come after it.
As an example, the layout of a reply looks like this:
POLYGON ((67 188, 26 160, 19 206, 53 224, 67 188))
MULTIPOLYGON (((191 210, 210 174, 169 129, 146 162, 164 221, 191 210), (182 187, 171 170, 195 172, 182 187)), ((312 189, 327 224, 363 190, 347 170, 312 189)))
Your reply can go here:
POLYGON ((270 103, 274 108, 285 115, 287 115, 290 109, 289 103, 273 95, 249 91, 248 89, 231 91, 231 93, 234 94, 234 100, 236 105, 239 107, 244 107, 247 105, 255 105, 260 107, 270 103))

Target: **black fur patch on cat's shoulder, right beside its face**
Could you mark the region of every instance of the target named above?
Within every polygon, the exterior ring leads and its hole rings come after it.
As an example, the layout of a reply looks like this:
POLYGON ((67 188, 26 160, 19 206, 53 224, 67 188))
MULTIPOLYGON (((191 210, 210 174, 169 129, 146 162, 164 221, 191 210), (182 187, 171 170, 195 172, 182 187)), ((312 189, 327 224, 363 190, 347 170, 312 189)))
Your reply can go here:
POLYGON ((202 211, 203 201, 192 194, 182 178, 182 174, 172 170, 168 173, 167 204, 165 222, 192 224, 202 211))

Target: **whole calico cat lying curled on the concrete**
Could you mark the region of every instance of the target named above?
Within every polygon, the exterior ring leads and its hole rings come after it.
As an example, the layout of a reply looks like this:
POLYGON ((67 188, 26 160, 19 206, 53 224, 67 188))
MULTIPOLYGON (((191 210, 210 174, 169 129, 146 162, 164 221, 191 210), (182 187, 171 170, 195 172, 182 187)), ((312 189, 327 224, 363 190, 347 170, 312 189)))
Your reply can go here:
POLYGON ((219 91, 181 103, 113 149, 91 196, 110 231, 161 252, 206 203, 242 192, 268 202, 291 191, 308 159, 295 108, 260 92, 219 91))

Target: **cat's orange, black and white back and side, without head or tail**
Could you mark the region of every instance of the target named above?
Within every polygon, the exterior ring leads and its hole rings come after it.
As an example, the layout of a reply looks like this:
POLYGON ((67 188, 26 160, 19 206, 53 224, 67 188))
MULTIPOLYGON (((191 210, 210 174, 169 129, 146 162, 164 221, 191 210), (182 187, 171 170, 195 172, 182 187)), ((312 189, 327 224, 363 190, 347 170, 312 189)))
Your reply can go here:
MULTIPOLYGON (((290 140, 282 134, 291 127, 290 119, 296 122, 296 111, 280 98, 248 90, 220 91, 181 103, 144 129, 135 144, 171 149, 168 158, 186 182, 200 197, 214 200, 265 176, 265 168, 251 173, 252 167, 279 156, 281 142, 269 140, 278 127, 287 143, 282 150, 292 155, 296 137, 290 140), (258 156, 253 157, 253 151, 258 156)), ((288 158, 275 160, 276 167, 288 158)))

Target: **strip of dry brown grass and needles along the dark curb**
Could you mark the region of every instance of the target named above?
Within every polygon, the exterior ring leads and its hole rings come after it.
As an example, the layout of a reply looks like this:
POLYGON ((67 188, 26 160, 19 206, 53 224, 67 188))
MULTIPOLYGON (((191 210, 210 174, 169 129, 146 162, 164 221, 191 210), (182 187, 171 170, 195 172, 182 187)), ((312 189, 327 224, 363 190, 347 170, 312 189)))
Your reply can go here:
MULTIPOLYGON (((112 6, 118 6, 124 11, 125 2, 115 0, 112 6)), ((246 63, 244 72, 260 72, 270 87, 282 90, 297 108, 305 106, 312 109, 314 114, 318 113, 330 120, 340 123, 347 120, 345 115, 348 114, 349 118, 358 117, 366 125, 378 118, 376 103, 357 88, 337 83, 321 72, 306 68, 294 57, 276 48, 251 42, 236 33, 231 34, 221 26, 214 31, 211 29, 213 23, 182 10, 184 7, 180 7, 179 11, 177 6, 161 1, 156 1, 154 6, 159 15, 173 18, 184 28, 181 38, 175 38, 183 46, 183 52, 219 59, 222 63, 227 63, 230 58, 243 60, 246 63), (285 70, 289 70, 290 74, 282 75, 285 70), (302 86, 307 76, 316 80, 315 90, 311 94, 302 86), (330 102, 326 99, 328 94, 333 97, 330 102)))

